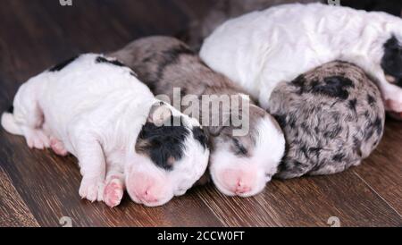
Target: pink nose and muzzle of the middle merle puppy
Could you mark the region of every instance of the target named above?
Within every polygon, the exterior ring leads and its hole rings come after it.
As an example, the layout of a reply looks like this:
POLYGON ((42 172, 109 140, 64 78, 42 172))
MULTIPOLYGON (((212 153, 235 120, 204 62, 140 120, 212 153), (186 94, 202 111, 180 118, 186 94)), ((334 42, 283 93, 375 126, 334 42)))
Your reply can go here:
POLYGON ((234 194, 241 195, 251 190, 255 185, 256 174, 245 169, 227 169, 222 171, 223 184, 234 194))

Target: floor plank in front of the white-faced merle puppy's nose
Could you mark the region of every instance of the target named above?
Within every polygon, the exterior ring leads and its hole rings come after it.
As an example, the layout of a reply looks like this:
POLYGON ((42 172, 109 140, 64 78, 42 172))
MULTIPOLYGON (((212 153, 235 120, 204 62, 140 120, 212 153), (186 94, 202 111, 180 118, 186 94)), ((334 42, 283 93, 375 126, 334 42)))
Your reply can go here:
POLYGON ((210 187, 197 192, 227 226, 394 226, 402 218, 353 171, 331 176, 274 180, 260 195, 240 199, 210 187))

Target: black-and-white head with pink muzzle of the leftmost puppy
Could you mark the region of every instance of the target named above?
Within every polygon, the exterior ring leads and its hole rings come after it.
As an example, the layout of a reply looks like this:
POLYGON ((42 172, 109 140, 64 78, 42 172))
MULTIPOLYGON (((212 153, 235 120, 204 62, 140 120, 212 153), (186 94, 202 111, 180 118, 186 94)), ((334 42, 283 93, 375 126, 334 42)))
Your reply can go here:
POLYGON ((196 120, 157 102, 138 135, 137 154, 126 169, 131 199, 155 207, 184 194, 205 172, 206 143, 196 120))

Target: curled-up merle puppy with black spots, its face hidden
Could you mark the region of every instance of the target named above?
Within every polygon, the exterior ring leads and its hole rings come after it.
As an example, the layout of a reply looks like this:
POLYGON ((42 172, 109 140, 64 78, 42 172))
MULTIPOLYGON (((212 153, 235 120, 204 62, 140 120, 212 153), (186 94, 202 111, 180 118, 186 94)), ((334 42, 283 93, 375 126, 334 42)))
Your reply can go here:
POLYGON ((281 178, 359 165, 377 147, 384 129, 380 90, 351 63, 326 63, 282 82, 272 92, 268 111, 287 140, 277 174, 281 178))

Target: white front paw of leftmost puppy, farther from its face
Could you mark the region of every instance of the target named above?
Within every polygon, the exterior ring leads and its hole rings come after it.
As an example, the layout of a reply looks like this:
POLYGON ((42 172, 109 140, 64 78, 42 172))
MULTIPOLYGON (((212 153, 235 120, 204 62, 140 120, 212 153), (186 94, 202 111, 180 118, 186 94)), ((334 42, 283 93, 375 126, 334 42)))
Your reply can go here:
POLYGON ((83 178, 80 184, 80 197, 81 199, 88 199, 91 202, 102 200, 102 193, 105 184, 98 178, 83 178))

